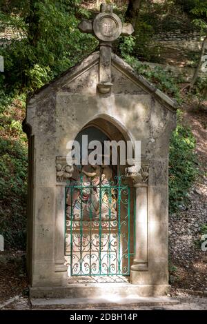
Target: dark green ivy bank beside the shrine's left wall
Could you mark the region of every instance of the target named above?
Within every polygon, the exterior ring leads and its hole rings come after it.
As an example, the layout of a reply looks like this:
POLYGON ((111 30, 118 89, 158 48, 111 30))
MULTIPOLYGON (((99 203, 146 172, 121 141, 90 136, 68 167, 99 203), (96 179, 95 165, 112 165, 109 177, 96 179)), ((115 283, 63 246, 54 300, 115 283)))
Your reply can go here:
POLYGON ((26 247, 27 152, 19 141, 0 139, 0 232, 6 248, 26 247))

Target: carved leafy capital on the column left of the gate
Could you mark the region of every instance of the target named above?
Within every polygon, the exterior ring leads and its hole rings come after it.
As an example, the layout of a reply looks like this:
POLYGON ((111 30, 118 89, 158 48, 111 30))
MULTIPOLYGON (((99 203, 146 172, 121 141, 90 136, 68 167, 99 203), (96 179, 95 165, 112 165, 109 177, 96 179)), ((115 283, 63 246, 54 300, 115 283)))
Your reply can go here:
POLYGON ((68 165, 65 156, 57 156, 56 159, 56 175, 57 181, 67 181, 71 178, 74 168, 73 165, 68 165))

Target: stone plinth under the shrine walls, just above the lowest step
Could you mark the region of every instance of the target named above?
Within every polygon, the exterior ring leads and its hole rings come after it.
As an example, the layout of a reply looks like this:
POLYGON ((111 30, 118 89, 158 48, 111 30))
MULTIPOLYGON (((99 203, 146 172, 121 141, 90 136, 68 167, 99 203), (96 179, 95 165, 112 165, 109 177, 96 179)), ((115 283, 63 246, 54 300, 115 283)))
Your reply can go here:
POLYGON ((30 298, 138 298, 164 296, 170 285, 132 285, 130 283, 75 283, 67 287, 30 287, 30 298))

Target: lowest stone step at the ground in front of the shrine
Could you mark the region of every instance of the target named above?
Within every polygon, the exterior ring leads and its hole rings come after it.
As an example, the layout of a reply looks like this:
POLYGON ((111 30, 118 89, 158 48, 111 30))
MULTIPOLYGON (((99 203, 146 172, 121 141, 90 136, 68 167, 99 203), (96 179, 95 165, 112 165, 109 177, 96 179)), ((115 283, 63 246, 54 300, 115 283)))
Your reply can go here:
POLYGON ((139 298, 32 298, 34 309, 82 309, 96 307, 141 307, 177 305, 179 300, 171 297, 139 297, 139 298))

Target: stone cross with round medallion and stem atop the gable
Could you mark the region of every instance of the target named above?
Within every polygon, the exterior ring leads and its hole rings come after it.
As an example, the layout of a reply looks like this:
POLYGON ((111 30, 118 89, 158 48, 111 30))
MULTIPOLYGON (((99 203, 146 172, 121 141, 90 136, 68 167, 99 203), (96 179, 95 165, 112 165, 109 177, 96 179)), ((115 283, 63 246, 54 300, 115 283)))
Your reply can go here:
POLYGON ((102 3, 101 12, 93 21, 83 19, 79 23, 79 30, 94 34, 99 40, 99 92, 106 94, 110 92, 111 83, 111 52, 112 41, 122 35, 130 35, 134 29, 130 23, 121 23, 121 19, 112 12, 112 5, 102 3))

